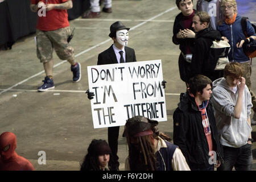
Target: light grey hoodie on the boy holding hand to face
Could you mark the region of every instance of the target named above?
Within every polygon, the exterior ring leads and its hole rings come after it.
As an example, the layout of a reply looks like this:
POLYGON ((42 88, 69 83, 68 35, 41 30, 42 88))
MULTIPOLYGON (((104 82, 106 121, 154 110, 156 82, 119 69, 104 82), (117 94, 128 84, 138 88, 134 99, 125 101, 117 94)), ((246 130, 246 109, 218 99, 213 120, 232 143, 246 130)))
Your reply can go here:
POLYGON ((250 118, 252 107, 249 89, 245 85, 243 107, 239 119, 234 117, 238 90, 229 88, 225 78, 213 81, 212 95, 214 115, 221 144, 234 148, 245 145, 251 133, 251 126, 247 122, 247 118, 250 118))

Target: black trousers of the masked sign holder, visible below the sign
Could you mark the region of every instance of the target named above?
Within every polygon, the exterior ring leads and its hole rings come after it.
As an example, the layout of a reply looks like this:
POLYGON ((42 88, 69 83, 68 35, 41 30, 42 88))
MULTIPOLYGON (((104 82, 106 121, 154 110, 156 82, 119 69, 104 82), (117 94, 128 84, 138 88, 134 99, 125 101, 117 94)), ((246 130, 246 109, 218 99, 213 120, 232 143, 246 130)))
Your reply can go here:
POLYGON ((108 142, 114 158, 114 171, 119 169, 119 158, 117 156, 119 128, 119 126, 108 127, 108 142))

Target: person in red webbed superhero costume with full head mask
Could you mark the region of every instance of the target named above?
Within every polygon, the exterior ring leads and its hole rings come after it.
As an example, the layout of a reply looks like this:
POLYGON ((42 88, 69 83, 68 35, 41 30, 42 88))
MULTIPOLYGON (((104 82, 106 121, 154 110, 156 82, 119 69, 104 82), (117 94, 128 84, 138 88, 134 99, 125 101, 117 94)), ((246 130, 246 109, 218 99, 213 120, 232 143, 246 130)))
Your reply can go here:
POLYGON ((16 152, 16 136, 5 132, 0 135, 0 171, 34 171, 34 166, 16 152))

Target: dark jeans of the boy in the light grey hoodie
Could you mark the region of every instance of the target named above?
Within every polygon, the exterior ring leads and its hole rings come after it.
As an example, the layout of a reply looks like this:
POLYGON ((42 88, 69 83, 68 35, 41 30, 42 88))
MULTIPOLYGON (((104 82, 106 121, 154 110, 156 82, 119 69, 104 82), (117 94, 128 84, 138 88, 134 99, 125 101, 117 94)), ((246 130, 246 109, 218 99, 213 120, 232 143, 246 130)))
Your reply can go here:
POLYGON ((245 144, 240 148, 223 146, 224 164, 217 168, 217 171, 251 171, 253 154, 251 144, 245 144))

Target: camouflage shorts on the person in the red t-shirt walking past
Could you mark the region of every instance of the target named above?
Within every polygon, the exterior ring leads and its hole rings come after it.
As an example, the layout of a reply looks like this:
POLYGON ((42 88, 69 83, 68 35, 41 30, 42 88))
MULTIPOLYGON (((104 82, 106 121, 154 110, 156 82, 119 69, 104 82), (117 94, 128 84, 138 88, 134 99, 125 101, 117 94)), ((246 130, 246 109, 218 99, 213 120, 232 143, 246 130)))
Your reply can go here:
POLYGON ((53 48, 61 60, 74 59, 74 49, 67 42, 70 28, 59 28, 53 31, 36 29, 36 54, 41 63, 52 59, 53 48))

